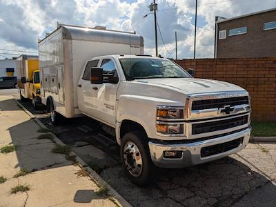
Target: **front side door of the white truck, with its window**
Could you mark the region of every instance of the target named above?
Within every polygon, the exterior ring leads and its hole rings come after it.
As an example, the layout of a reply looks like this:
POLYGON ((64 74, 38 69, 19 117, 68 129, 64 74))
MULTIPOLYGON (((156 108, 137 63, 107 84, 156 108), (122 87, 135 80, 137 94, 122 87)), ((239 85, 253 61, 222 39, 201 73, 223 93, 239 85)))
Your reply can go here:
POLYGON ((119 83, 110 83, 108 77, 118 77, 117 67, 115 61, 110 58, 103 59, 100 67, 103 68, 103 83, 91 84, 94 117, 115 126, 116 93, 119 83))

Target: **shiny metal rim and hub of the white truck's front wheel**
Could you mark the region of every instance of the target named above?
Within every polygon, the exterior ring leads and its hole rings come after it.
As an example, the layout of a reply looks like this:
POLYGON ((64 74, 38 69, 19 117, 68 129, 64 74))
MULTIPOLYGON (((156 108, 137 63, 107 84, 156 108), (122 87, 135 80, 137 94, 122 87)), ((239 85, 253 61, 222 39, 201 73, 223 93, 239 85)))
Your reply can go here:
POLYGON ((141 175, 143 160, 139 148, 132 141, 128 141, 124 146, 124 163, 132 176, 141 175))

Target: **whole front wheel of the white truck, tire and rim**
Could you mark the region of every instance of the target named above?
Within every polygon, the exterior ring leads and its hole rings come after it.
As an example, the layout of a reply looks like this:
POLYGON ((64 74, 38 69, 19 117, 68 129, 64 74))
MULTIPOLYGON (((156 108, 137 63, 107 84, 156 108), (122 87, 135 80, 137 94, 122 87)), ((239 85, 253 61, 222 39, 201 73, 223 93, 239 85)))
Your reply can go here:
POLYGON ((133 131, 128 132, 121 140, 121 161, 126 175, 137 186, 149 184, 152 173, 153 164, 146 139, 148 137, 143 132, 133 131))

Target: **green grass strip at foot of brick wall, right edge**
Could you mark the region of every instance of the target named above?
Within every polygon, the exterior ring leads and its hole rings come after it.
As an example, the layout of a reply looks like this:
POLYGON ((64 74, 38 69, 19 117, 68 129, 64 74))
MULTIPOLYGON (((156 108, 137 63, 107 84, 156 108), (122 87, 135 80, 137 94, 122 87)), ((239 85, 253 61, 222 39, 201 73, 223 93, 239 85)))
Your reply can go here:
POLYGON ((251 126, 252 126, 253 137, 275 137, 276 136, 276 121, 274 122, 252 121, 251 126))

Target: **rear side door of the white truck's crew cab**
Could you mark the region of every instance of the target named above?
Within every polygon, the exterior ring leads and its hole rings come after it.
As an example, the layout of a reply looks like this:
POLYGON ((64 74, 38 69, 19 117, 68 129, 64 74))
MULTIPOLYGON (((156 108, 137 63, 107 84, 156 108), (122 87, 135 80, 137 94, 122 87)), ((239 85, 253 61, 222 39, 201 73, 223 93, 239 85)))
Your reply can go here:
POLYGON ((90 83, 90 70, 92 67, 97 67, 99 59, 88 61, 83 72, 83 77, 79 79, 77 85, 77 101, 79 110, 88 115, 92 115, 92 84, 90 83))

